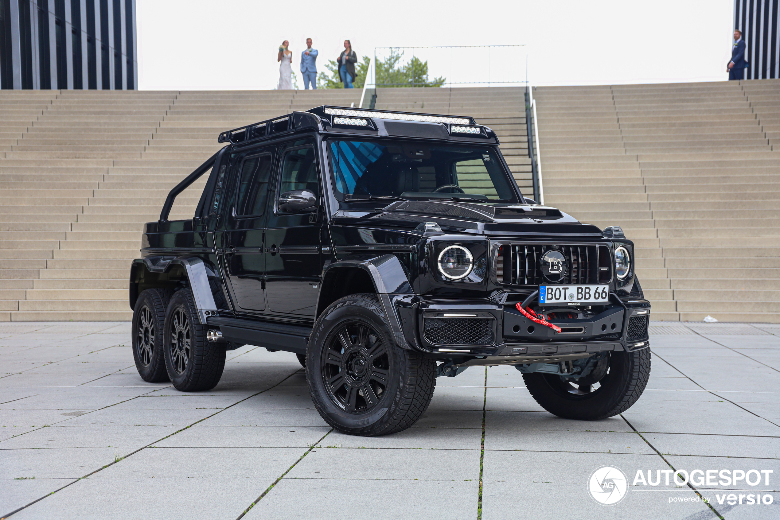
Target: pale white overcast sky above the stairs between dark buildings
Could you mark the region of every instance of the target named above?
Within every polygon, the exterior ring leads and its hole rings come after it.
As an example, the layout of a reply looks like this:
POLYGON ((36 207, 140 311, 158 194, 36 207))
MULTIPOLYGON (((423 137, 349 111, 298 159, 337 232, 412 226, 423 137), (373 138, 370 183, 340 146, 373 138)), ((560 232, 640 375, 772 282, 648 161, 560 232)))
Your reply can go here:
MULTIPOLYGON (((376 47, 527 44, 534 85, 727 80, 733 0, 260 2, 137 0, 141 90, 271 89, 289 40, 300 81, 306 38, 317 65, 376 47)), ((486 54, 418 51, 432 75, 484 80, 486 54), (452 59, 452 69, 451 61, 452 59)), ((525 77, 521 51, 493 51, 493 80, 525 77), (512 51, 512 52, 508 52, 512 51)))

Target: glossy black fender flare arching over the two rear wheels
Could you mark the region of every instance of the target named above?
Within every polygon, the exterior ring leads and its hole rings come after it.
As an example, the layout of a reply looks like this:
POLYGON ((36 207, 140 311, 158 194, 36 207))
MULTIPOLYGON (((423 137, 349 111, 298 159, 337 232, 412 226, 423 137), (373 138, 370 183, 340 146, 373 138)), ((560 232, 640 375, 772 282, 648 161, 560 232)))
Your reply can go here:
POLYGON ((198 319, 200 324, 205 325, 207 316, 211 316, 212 311, 213 315, 216 316, 217 311, 217 303, 214 299, 214 293, 211 292, 209 275, 218 277, 218 274, 213 267, 197 256, 147 256, 133 260, 130 267, 130 308, 135 308, 135 302, 138 299, 138 270, 145 268, 151 273, 166 273, 173 265, 183 267, 198 310, 198 319))

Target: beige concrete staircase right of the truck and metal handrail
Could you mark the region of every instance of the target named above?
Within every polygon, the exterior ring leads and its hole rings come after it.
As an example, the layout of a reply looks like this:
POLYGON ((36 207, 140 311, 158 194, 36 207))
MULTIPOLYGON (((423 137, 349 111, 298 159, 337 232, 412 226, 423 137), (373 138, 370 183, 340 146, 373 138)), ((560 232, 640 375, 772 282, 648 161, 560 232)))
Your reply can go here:
POLYGON ((545 202, 623 227, 651 319, 780 321, 780 81, 534 97, 545 202))

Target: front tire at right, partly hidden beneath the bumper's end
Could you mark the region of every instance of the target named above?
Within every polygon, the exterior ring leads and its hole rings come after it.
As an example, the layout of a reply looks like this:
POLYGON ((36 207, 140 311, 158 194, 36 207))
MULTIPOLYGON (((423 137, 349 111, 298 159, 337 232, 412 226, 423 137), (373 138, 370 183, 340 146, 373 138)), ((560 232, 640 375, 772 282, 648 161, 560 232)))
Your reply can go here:
POLYGON ((610 352, 609 373, 590 394, 573 394, 566 378, 547 373, 524 373, 531 396, 548 412, 564 419, 598 420, 629 409, 647 386, 650 348, 610 352))

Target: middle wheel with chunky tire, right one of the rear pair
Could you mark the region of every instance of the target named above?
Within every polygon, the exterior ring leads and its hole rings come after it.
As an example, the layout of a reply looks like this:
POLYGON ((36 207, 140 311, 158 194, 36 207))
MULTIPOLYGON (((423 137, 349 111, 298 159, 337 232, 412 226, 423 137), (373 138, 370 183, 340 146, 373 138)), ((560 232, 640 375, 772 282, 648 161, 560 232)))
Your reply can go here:
POLYGON ((211 390, 225 369, 225 347, 206 339, 190 289, 174 293, 165 313, 165 368, 174 387, 184 392, 211 390), (176 334, 176 337, 174 337, 176 334))

